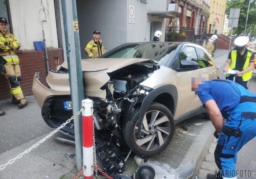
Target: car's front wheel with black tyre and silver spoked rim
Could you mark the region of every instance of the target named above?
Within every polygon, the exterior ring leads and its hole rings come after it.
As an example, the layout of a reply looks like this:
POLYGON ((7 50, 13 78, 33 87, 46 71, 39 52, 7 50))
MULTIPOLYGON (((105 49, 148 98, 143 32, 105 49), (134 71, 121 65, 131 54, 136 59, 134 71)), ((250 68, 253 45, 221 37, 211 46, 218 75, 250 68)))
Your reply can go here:
POLYGON ((140 107, 124 126, 124 140, 130 149, 142 156, 152 156, 163 151, 172 140, 175 131, 174 118, 170 110, 160 103, 151 103, 143 119, 141 137, 138 131, 140 107))

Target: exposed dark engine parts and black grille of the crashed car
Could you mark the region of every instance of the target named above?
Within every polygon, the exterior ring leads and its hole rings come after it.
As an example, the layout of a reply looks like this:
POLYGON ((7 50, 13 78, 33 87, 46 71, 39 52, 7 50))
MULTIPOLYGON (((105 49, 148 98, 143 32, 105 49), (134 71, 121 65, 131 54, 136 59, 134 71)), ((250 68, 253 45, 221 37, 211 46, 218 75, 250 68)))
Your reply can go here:
MULTIPOLYGON (((140 86, 140 83, 147 80, 157 69, 158 66, 152 61, 125 66, 108 73, 110 80, 100 88, 100 90, 106 90, 105 100, 86 96, 93 101, 94 128, 101 130, 100 135, 104 133, 102 130, 110 130, 118 135, 117 138, 122 139, 122 125, 129 120, 128 113, 132 114, 134 105, 137 102, 141 103, 144 96, 152 90, 140 86)), ((57 72, 66 73, 67 69, 60 68, 57 72)), ((42 116, 46 123, 52 127, 58 127, 70 119, 72 107, 69 105, 72 105, 70 96, 48 97, 42 107, 42 116), (47 111, 48 116, 44 111, 47 111)), ((73 121, 62 128, 62 132, 74 138, 73 121)))

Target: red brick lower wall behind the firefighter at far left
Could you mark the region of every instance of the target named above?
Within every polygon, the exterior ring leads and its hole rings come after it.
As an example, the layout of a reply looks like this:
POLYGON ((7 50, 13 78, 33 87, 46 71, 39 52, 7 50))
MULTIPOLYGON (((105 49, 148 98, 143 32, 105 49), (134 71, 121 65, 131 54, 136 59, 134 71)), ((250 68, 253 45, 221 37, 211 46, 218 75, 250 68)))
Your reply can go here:
MULTIPOLYGON (((32 94, 32 84, 34 74, 40 72, 40 82, 46 85, 47 76, 46 60, 44 50, 16 51, 20 59, 20 71, 22 76, 21 89, 23 94, 32 94)), ((47 49, 48 64, 50 70, 55 70, 56 66, 62 64, 62 49, 47 49)), ((0 101, 10 98, 10 88, 4 76, 0 76, 0 101)))

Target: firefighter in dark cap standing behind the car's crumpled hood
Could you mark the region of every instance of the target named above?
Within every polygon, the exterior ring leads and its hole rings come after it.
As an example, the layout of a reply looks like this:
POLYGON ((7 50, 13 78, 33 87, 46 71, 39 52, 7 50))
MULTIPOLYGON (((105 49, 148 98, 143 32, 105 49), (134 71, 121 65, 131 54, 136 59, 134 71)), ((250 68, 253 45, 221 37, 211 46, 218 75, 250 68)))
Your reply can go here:
POLYGON ((91 40, 86 48, 85 52, 90 58, 98 58, 99 56, 102 56, 105 54, 105 48, 102 43, 102 40, 100 39, 100 32, 95 30, 92 33, 93 40, 91 40))

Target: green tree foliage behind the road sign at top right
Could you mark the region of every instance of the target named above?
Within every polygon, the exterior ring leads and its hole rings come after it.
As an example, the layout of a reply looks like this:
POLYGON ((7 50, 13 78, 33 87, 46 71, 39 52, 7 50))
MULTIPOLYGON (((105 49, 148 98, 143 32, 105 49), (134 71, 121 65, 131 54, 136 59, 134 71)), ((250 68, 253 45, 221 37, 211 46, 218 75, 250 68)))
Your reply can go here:
MULTIPOLYGON (((240 35, 244 32, 248 6, 249 6, 249 0, 228 0, 226 5, 226 14, 228 15, 228 18, 229 18, 229 13, 231 8, 240 8, 238 27, 233 28, 233 34, 240 35)), ((255 28, 256 28, 256 0, 251 0, 248 20, 246 25, 246 35, 250 32, 250 29, 251 29, 250 35, 254 36, 256 33, 255 28)))

